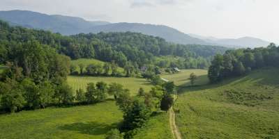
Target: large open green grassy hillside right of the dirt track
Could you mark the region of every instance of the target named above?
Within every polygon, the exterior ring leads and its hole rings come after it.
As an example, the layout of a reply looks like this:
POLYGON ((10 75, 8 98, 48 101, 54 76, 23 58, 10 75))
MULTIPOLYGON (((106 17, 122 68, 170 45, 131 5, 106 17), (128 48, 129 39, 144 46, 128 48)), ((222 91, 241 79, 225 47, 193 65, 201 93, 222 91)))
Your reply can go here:
POLYGON ((183 138, 279 138, 278 74, 268 68, 216 85, 184 88, 175 104, 183 138), (246 95, 228 97, 227 90, 246 95))

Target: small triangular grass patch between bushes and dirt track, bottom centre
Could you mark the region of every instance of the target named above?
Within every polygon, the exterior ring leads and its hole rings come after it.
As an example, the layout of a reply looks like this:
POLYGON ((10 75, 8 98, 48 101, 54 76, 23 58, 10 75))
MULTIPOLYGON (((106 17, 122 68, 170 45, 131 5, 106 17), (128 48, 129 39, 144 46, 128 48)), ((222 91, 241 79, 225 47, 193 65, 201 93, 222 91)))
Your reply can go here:
POLYGON ((169 115, 168 113, 159 113, 151 117, 149 122, 140 129, 135 139, 172 139, 172 131, 169 128, 169 115))

